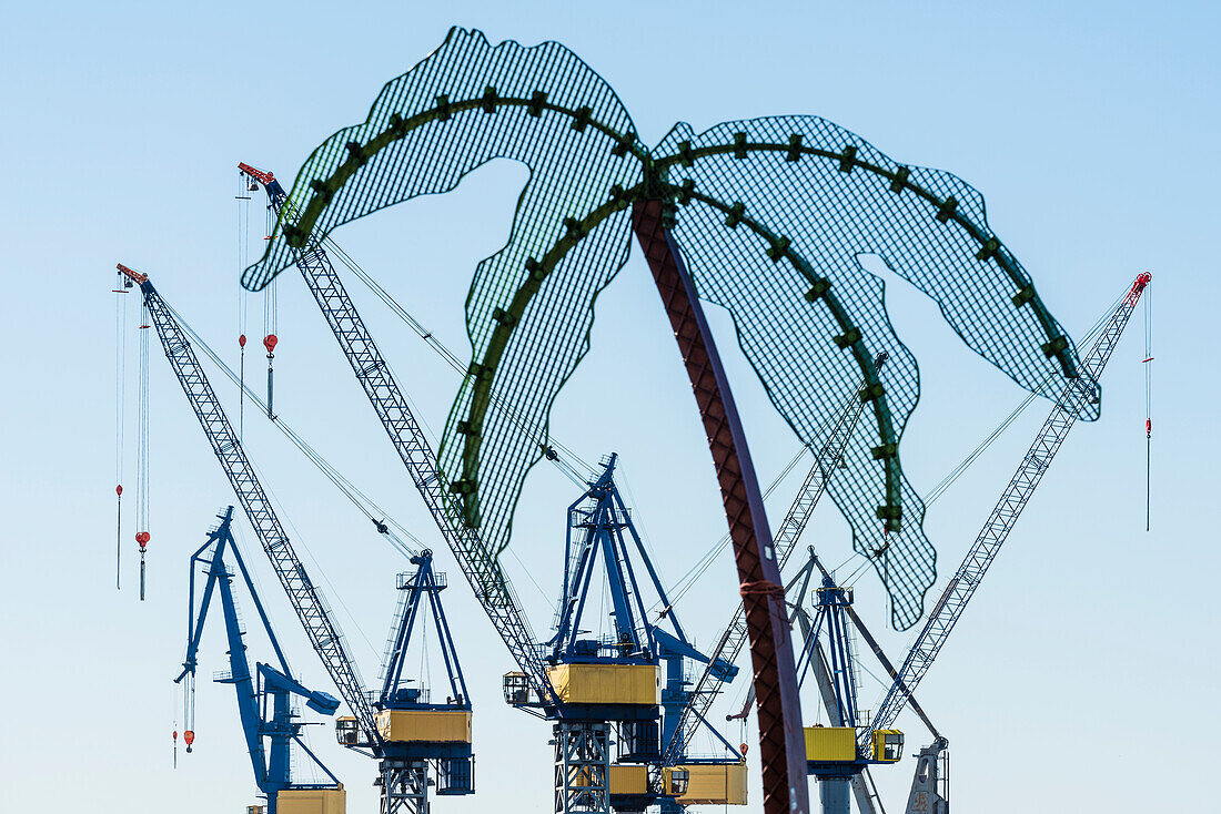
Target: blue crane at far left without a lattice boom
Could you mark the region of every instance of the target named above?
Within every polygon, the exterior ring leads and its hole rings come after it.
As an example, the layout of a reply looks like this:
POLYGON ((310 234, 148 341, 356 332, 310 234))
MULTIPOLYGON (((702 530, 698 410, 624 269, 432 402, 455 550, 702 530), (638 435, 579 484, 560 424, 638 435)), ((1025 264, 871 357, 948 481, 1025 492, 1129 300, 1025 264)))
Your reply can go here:
MULTIPOLYGON (((281 801, 291 801, 293 805, 315 807, 320 812, 341 813, 344 807, 343 785, 331 770, 309 749, 300 738, 304 726, 292 711, 292 696, 305 701, 305 705, 322 715, 333 715, 339 701, 333 696, 311 691, 297 681, 288 669, 288 661, 280 648, 280 641, 255 591, 254 582, 242 559, 242 553, 233 539, 231 524, 233 506, 217 515, 220 525, 210 530, 208 541, 190 556, 190 596, 187 624, 187 657, 182 663, 182 672, 175 682, 183 680, 194 682, 199 665, 199 642, 204 633, 204 622, 214 596, 220 597, 221 613, 225 616, 225 631, 228 638, 230 670, 217 679, 220 683, 231 683, 237 694, 238 714, 242 719, 242 732, 247 751, 254 769, 255 785, 267 797, 269 814, 277 814, 281 801), (232 556, 245 583, 250 599, 259 613, 259 620, 267 633, 267 639, 275 650, 280 669, 270 664, 256 663, 250 670, 244 642, 245 631, 238 619, 237 599, 233 596, 234 572, 227 565, 226 558, 232 556), (195 611, 195 575, 200 567, 206 569, 208 578, 195 611), (267 714, 270 701, 270 715, 267 714), (267 742, 265 746, 264 742, 267 742), (291 775, 289 751, 292 744, 300 747, 310 759, 331 779, 330 783, 293 782, 291 775)), ((190 749, 188 744, 187 749, 190 749)), ((295 810, 295 809, 294 809, 295 810)))

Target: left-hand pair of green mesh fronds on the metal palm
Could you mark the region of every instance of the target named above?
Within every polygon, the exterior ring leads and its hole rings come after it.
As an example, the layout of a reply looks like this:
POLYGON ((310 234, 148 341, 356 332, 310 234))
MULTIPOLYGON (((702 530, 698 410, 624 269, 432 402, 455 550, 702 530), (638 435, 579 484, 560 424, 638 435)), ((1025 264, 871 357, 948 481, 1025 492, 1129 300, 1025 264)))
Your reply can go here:
POLYGON ((529 166, 509 243, 475 270, 466 299, 471 370, 438 450, 442 475, 463 495, 453 522, 479 526, 496 552, 509 541, 525 475, 542 455, 551 404, 589 350, 593 299, 628 260, 628 211, 587 227, 573 218, 606 204, 614 184, 639 183, 634 129, 610 87, 564 46, 493 48, 480 32, 452 29, 382 89, 365 123, 314 151, 289 195, 299 218, 277 225, 266 256, 243 276, 260 288, 292 265, 292 244, 306 233, 325 236, 385 206, 453 189, 492 159, 529 166), (571 250, 538 271, 576 232, 582 238, 571 250), (498 403, 512 409, 490 409, 498 403))

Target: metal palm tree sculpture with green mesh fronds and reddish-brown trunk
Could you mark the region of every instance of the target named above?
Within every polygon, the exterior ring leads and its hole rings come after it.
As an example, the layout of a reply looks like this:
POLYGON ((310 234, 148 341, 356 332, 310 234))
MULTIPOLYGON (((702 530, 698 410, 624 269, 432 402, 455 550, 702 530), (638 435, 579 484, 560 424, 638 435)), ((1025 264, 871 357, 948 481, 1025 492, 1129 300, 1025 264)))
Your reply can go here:
POLYGON ((243 283, 259 289, 308 240, 453 189, 498 157, 525 164, 530 179, 508 244, 479 264, 466 300, 470 367, 438 452, 451 520, 480 528, 493 550, 509 544, 526 475, 546 452, 537 439, 635 233, 717 465, 751 631, 764 802, 790 810, 792 788, 803 804, 805 782, 789 782, 805 774, 805 755, 779 570, 702 303, 729 311, 772 403, 812 448, 842 394, 864 382, 869 431, 851 441, 829 492, 853 547, 873 559, 897 629, 921 618, 935 576, 899 448, 919 375, 883 281, 860 256, 879 256, 933 298, 968 347, 1031 392, 1054 397, 1060 377, 1078 375, 1073 345, 989 228, 983 198, 955 176, 897 164, 814 116, 703 133, 680 123, 650 149, 609 85, 564 46, 492 46, 462 29, 389 82, 364 123, 314 151, 291 193, 293 217, 243 283), (878 371, 880 351, 890 361, 878 371))

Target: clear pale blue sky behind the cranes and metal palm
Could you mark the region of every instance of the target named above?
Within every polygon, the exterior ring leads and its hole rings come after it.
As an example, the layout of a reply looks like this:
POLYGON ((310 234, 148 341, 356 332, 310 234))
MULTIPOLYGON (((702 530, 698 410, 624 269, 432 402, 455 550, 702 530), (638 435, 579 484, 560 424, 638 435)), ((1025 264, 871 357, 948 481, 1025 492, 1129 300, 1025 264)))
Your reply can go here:
MULTIPOLYGON (((111 270, 154 275, 165 297, 236 360, 234 165, 292 177, 309 150, 360 121, 374 95, 451 24, 490 39, 557 39, 615 88, 642 138, 679 120, 817 113, 897 160, 980 189, 996 232, 1079 333, 1140 271, 1154 273, 1154 531, 1144 531, 1140 323, 1105 378, 1103 419, 1074 430, 921 694, 951 741, 962 810, 1203 810, 1219 721, 1214 506, 1221 400, 1216 351, 1216 41, 1212 4, 9 4, 0 11, 0 198, 6 297, 5 509, 0 619, 0 809, 181 814, 242 810, 253 782, 209 630, 199 748, 170 764, 171 679, 186 633, 186 561, 232 502, 160 355, 151 365, 149 599, 136 600, 132 527, 114 589, 115 347, 111 270), (442 5, 444 7, 442 9, 442 5), (82 799, 84 798, 84 799, 82 799)), ((479 259, 504 240, 524 171, 493 165, 454 193, 382 212, 336 237, 451 347, 479 259)), ((261 229, 254 211, 253 229, 261 229)), ((258 237, 258 234, 256 234, 258 237)), ((440 428, 455 380, 366 292, 357 290, 411 395, 440 428)), ((565 389, 557 437, 585 459, 617 450, 663 576, 722 533, 719 499, 681 365, 647 272, 634 258, 600 306, 593 350, 565 389), (607 377, 614 387, 606 388, 607 377)), ((894 321, 921 360, 923 399, 905 438, 928 489, 1021 399, 967 351, 932 304, 891 286, 894 321)), ((261 333, 261 299, 249 333, 261 333)), ((714 315, 725 336, 726 321, 714 315)), ((298 281, 280 292, 281 414, 403 522, 441 548, 410 482, 298 281)), ((259 369, 258 354, 250 360, 259 369)), ((131 355, 134 362, 134 353, 131 355)), ((729 353, 764 480, 796 448, 729 353)), ((128 371, 134 371, 131 364, 128 371)), ((233 388, 225 388, 226 398, 233 388)), ((941 578, 973 539, 1032 437, 1037 405, 929 513, 941 578)), ((134 415, 134 410, 128 414, 134 415)), ((407 563, 270 428, 248 417, 252 454, 325 574, 366 679, 407 563)), ((128 436, 128 441, 132 441, 128 436)), ((134 474, 127 450, 127 480, 134 474)), ((778 520, 797 481, 769 506, 778 520)), ((545 630, 559 578, 567 481, 527 484, 510 559, 545 630)), ((131 506, 129 506, 131 508, 131 506)), ((828 504, 808 542, 847 558, 828 504)), ((325 675, 256 554, 294 668, 325 675)), ((448 553, 440 567, 453 569, 448 553)), ((940 583, 939 583, 940 585, 940 583)), ((679 610, 707 643, 734 602, 724 558, 679 610)), ((882 629, 875 585, 861 611, 882 629)), ((447 593, 476 711, 474 798, 442 812, 549 810, 541 724, 501 702, 502 646, 469 596, 447 593)), ((219 620, 214 620, 216 625, 219 620)), ((908 636, 883 635, 891 654, 908 636)), ((252 637, 255 658, 270 655, 252 637)), ((741 688, 730 693, 740 696, 741 688)), ((864 677, 873 705, 880 687, 864 677)), ((926 736, 904 719, 912 747, 926 736)), ((181 720, 179 720, 181 726, 181 720)), ((740 732, 731 731, 737 740, 740 732)), ((753 733, 745 740, 753 742, 753 733)), ((313 742, 372 810, 370 766, 327 729, 313 742)), ((875 773, 900 807, 911 762, 875 773)), ((752 766, 751 793, 758 803, 752 766)))

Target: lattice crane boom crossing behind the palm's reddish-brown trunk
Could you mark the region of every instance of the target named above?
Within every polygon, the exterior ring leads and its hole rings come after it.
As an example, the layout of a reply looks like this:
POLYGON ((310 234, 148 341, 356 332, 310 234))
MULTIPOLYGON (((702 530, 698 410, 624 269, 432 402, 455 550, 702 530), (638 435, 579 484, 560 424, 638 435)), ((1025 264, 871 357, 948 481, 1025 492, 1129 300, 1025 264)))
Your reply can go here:
MULTIPOLYGON (((874 369, 880 370, 888 358, 886 353, 878 354, 878 358, 874 359, 873 362, 874 369)), ((789 509, 789 514, 785 515, 784 521, 777 530, 775 537, 772 542, 773 546, 775 546, 777 561, 779 561, 781 569, 789 560, 789 555, 796 547, 801 533, 806 530, 806 524, 810 522, 810 517, 814 511, 814 506, 818 505, 819 498, 823 497, 823 492, 827 489, 827 482, 835 466, 839 464, 840 458, 844 455, 844 449, 847 447, 847 442, 852 437, 852 431, 856 428, 856 425, 861 419, 864 404, 866 403, 857 397, 857 393, 852 393, 849 403, 840 412, 835 426, 832 428, 830 437, 818 450, 814 465, 811 467, 805 482, 797 491, 797 497, 794 499, 792 506, 789 509)), ((691 741, 691 736, 695 733, 696 726, 701 720, 707 720, 708 710, 712 709, 712 704, 716 701, 717 694, 720 692, 723 683, 723 681, 718 679, 713 671, 713 665, 718 661, 734 664, 737 660, 739 654, 742 652, 742 647, 746 644, 746 614, 742 604, 739 603, 737 610, 734 611, 734 616, 729 620, 724 632, 720 635, 717 647, 713 648, 712 658, 700 674, 695 690, 691 691, 691 698, 687 702, 687 705, 683 709, 683 714, 679 718, 673 737, 669 743, 665 744, 665 755, 662 762, 663 765, 672 766, 683 758, 683 754, 686 751, 686 744, 691 741)))

